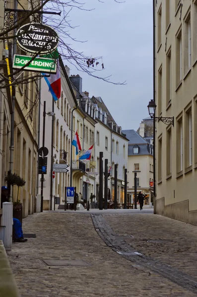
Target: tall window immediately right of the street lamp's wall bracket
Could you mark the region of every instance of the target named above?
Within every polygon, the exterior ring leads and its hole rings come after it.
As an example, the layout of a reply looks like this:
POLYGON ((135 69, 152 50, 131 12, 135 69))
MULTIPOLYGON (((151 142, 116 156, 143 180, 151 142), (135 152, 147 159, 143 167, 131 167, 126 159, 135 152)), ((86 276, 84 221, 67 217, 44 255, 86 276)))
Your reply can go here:
POLYGON ((177 121, 177 173, 183 170, 183 117, 177 121))

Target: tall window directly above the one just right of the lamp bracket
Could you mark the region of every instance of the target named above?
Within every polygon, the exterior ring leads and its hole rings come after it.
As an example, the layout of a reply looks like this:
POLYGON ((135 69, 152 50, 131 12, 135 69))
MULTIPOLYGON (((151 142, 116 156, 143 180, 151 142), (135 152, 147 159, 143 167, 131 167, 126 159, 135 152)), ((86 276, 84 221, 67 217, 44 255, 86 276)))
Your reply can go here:
POLYGON ((177 85, 182 80, 182 30, 179 30, 176 36, 176 71, 177 71, 177 78, 176 82, 177 85))

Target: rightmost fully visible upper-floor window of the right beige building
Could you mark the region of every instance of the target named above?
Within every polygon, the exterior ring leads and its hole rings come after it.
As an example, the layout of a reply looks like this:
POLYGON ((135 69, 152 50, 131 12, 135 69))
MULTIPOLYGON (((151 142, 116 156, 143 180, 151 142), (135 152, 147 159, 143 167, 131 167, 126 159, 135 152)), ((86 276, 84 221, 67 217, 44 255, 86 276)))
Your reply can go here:
POLYGON ((185 73, 191 68, 191 19, 190 13, 185 20, 184 34, 184 71, 185 73))

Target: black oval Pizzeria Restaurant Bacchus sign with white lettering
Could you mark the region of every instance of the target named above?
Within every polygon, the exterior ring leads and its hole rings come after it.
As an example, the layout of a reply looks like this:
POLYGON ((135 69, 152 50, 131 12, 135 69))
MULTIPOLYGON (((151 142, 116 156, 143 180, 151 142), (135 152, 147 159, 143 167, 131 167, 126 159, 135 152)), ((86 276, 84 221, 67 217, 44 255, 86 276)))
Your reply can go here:
POLYGON ((58 47, 59 36, 56 31, 44 24, 29 23, 23 25, 16 33, 19 48, 27 52, 51 53, 58 47))

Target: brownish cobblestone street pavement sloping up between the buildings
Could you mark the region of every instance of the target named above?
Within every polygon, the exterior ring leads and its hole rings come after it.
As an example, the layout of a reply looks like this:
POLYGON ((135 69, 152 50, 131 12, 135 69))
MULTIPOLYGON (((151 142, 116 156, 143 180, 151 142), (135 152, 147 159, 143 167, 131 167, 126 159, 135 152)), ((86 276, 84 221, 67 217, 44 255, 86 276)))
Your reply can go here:
MULTIPOLYGON (((99 227, 100 219, 108 228, 106 232, 111 232, 112 239, 120 241, 120 245, 127 246, 129 251, 135 249, 154 259, 158 256, 159 261, 164 264, 170 262, 174 269, 187 275, 195 274, 195 270, 193 273, 187 271, 187 261, 183 259, 185 255, 190 259, 190 249, 186 251, 187 241, 188 247, 192 243, 196 246, 197 231, 194 226, 152 214, 117 213, 92 215, 91 218, 90 214, 74 212, 40 213, 23 220, 24 233, 36 233, 37 237, 29 238, 26 243, 13 244, 12 251, 8 253, 21 297, 197 296, 193 284, 192 290, 183 288, 165 277, 165 269, 161 275, 160 271, 155 272, 147 265, 136 264, 135 258, 124 258, 112 249, 109 241, 107 246, 104 238, 97 233, 99 228, 102 229, 101 225, 99 227), (95 223, 93 216, 99 219, 95 226, 97 231, 92 223, 92 219, 95 223), (168 233, 165 228, 171 232, 168 233), (185 245, 185 250, 179 253, 182 266, 174 263, 178 257, 173 254, 175 249, 171 254, 169 242, 169 252, 163 244, 164 255, 159 244, 154 246, 142 241, 161 238, 174 242, 177 238, 178 242, 179 234, 180 238, 184 238, 185 245), (83 260, 90 266, 47 266, 43 262, 45 259, 83 260)), ((182 246, 179 248, 182 250, 182 246)), ((191 259, 190 262, 191 269, 195 269, 191 259)))

